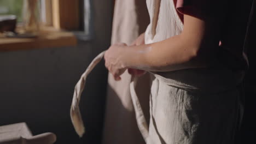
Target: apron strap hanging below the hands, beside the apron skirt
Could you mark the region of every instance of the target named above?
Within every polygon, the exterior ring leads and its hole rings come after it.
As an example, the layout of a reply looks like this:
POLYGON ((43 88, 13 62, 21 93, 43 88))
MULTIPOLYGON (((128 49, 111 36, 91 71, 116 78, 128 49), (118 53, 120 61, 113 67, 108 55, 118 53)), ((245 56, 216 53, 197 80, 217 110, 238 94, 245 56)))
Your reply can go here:
POLYGON ((135 116, 137 120, 137 125, 139 128, 139 131, 141 131, 141 134, 144 138, 144 140, 147 142, 148 139, 148 124, 146 121, 146 118, 144 116, 143 110, 141 108, 141 104, 139 104, 139 100, 135 91, 135 87, 137 85, 138 78, 135 76, 132 76, 131 82, 130 82, 130 93, 131 93, 131 99, 133 103, 133 107, 135 109, 135 116))

